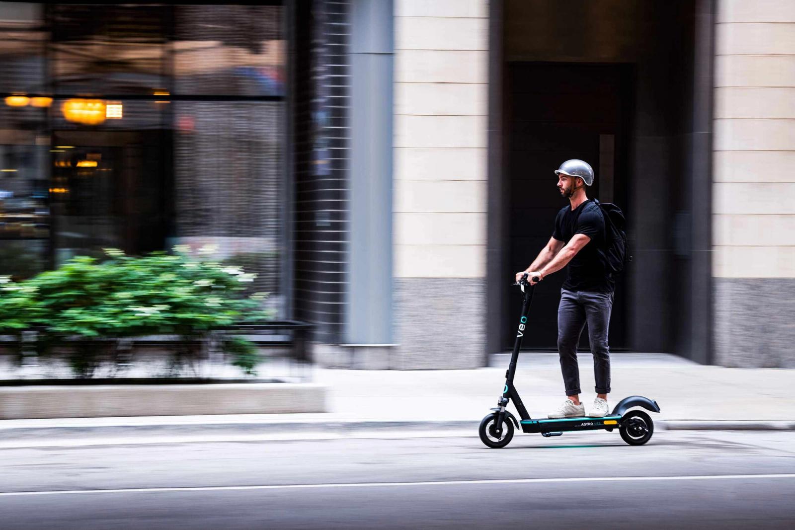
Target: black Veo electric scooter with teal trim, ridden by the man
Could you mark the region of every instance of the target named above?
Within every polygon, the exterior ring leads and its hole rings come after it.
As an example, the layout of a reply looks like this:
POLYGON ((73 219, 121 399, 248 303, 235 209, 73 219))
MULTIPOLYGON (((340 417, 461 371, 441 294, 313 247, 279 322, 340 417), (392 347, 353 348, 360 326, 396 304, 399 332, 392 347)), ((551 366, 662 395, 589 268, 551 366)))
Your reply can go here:
MULTIPOLYGON (((514 373, 516 373, 516 362, 519 358, 519 348, 522 346, 522 337, 527 329, 527 314, 530 304, 533 301, 534 285, 527 282, 525 273, 518 284, 522 288, 524 304, 522 306, 522 317, 519 319, 519 329, 516 333, 514 343, 514 353, 510 356, 510 366, 505 373, 505 388, 502 396, 499 397, 497 407, 492 408, 494 412, 483 418, 478 429, 480 439, 488 447, 499 449, 506 447, 510 440, 514 438, 514 425, 518 429, 521 425, 522 432, 538 433, 545 437, 560 436, 564 431, 613 431, 619 429, 622 439, 630 445, 643 445, 651 439, 654 432, 654 424, 651 417, 646 412, 640 410, 629 410, 633 407, 642 407, 652 412, 660 412, 657 401, 650 400, 642 396, 625 397, 619 404, 615 405, 613 412, 601 418, 591 418, 580 416, 576 418, 561 418, 560 420, 533 420, 527 413, 522 398, 514 388, 514 373), (506 406, 513 400, 514 406, 522 416, 522 420, 516 420, 516 416, 506 411, 506 406), (629 411, 629 412, 627 412, 629 411)), ((533 278, 537 282, 537 278, 533 278)))

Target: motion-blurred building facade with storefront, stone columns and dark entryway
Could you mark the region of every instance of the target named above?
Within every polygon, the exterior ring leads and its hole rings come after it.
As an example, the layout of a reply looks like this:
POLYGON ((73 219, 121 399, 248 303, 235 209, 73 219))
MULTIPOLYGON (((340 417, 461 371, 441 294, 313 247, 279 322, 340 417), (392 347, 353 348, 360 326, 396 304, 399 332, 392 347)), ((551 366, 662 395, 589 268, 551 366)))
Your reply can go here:
POLYGON ((614 350, 795 366, 793 35, 788 0, 0 2, 0 274, 211 243, 325 366, 485 366, 582 158, 629 219, 614 350))

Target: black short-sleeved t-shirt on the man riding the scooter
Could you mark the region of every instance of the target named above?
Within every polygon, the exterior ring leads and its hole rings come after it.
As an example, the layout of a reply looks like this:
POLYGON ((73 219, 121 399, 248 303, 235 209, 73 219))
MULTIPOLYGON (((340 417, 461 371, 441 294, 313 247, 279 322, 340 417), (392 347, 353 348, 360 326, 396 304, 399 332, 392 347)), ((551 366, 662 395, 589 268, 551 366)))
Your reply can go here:
POLYGON ((568 291, 613 292, 615 281, 604 268, 598 250, 604 246, 602 209, 586 200, 572 210, 566 205, 557 212, 552 237, 567 243, 576 235, 585 234, 591 241, 568 262, 568 278, 563 288, 568 291))

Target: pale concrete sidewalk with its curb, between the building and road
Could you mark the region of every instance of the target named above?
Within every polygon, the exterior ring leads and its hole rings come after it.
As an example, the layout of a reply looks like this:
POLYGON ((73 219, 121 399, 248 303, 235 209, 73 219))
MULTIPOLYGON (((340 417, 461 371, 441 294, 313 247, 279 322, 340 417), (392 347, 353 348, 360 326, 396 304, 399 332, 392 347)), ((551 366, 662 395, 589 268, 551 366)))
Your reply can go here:
MULTIPOLYGON (((670 354, 611 358, 611 407, 632 395, 657 400, 661 413, 653 414, 653 420, 658 428, 795 430, 793 369, 701 366, 670 354)), ((474 432, 497 403, 509 360, 508 354, 494 355, 494 367, 467 370, 315 368, 313 382, 328 386, 330 412, 324 414, 3 420, 0 442, 200 433, 256 437, 268 432, 301 439, 301 433, 378 429, 474 432)), ((580 354, 584 390, 594 387, 591 362, 590 354, 580 354)), ((546 417, 565 399, 557 354, 520 355, 514 385, 530 415, 546 417)), ((594 395, 587 391, 581 399, 588 403, 594 395)))

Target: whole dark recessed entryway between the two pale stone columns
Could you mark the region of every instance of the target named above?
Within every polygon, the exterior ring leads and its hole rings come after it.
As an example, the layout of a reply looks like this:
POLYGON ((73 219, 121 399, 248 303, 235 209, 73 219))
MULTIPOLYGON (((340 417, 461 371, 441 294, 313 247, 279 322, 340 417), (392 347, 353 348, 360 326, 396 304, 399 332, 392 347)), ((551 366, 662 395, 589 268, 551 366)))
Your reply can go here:
MULTIPOLYGON (((510 282, 566 204, 553 171, 582 158, 596 173, 589 196, 626 213, 634 257, 619 280, 611 349, 708 362, 712 8, 489 2, 488 353, 513 345, 510 282)), ((538 288, 523 346, 556 350, 564 277, 538 288)))

